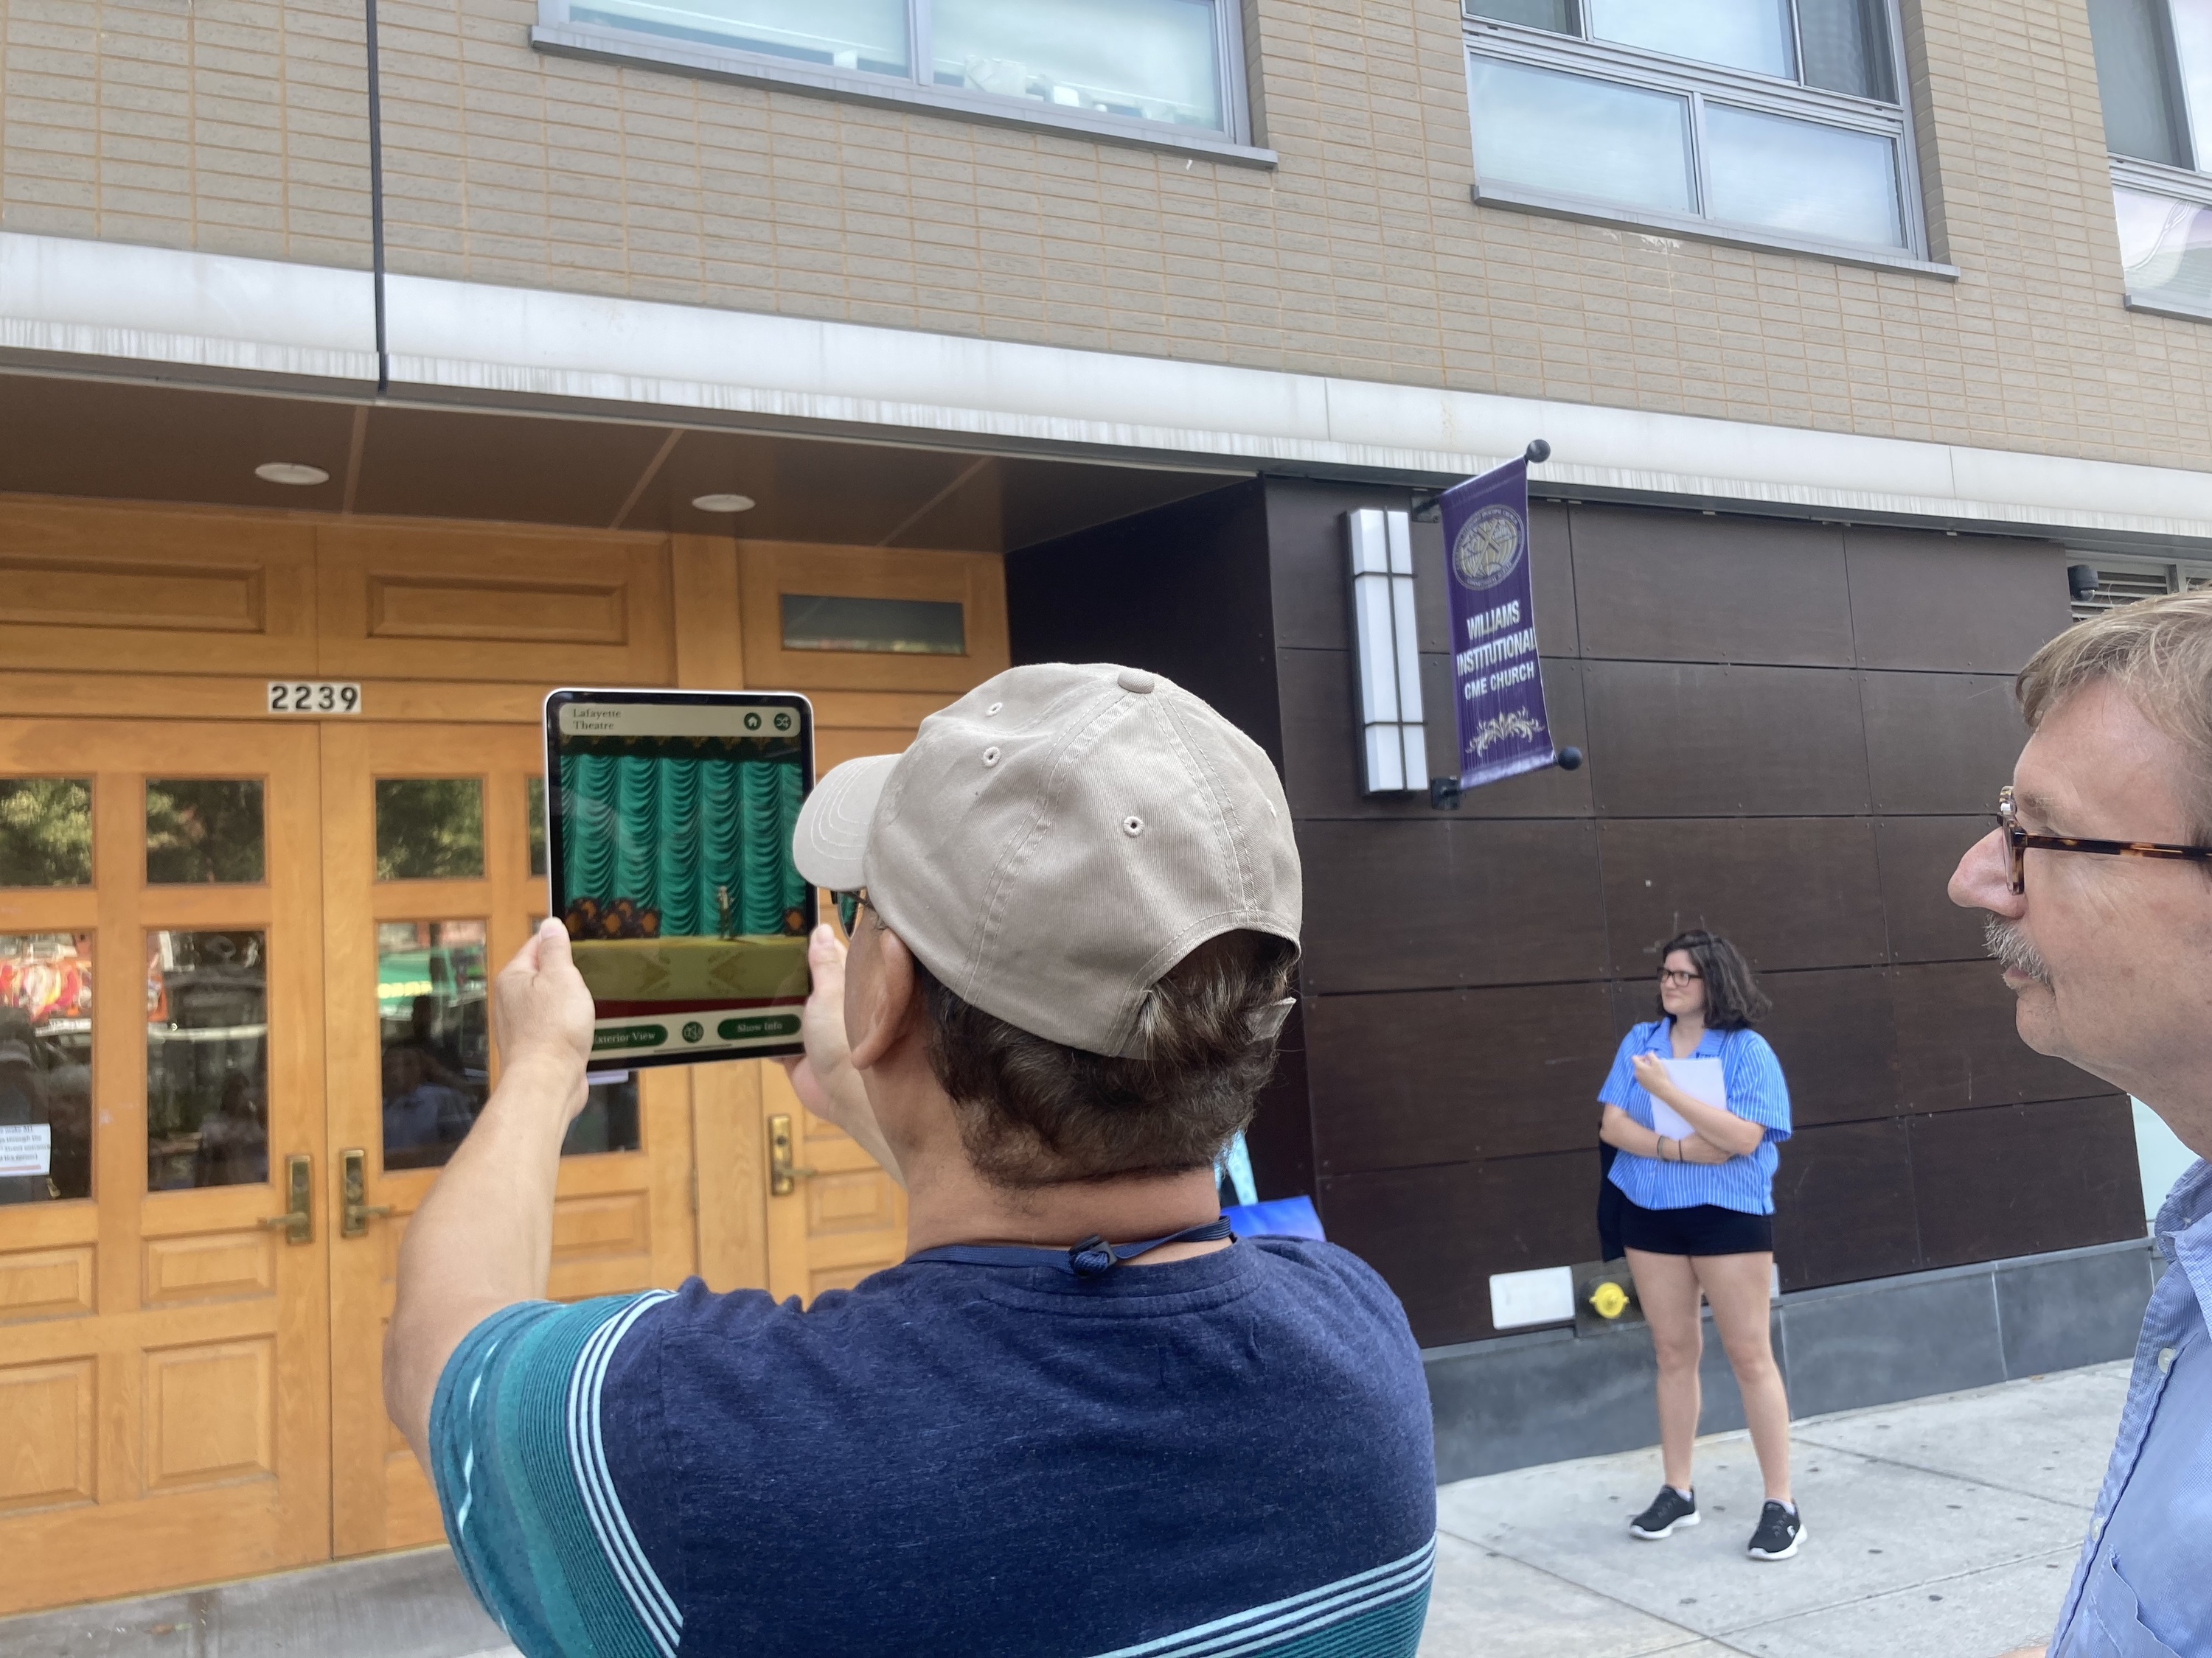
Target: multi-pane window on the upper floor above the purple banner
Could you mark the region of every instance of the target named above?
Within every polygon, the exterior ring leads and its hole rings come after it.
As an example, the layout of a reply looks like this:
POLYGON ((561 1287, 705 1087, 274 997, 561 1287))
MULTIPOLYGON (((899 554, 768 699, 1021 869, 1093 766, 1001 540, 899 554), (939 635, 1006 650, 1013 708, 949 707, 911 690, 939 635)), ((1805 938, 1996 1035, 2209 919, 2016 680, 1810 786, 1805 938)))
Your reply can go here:
POLYGON ((1467 73, 1480 201, 1924 261, 1891 0, 1467 0, 1467 73))

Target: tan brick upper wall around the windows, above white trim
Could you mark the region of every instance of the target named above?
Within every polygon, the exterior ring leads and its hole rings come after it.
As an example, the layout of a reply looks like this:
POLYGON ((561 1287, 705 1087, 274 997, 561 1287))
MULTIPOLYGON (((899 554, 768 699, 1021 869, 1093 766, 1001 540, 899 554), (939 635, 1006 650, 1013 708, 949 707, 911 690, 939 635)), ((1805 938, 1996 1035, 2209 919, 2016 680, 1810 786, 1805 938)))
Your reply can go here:
MULTIPOLYGON (((1274 172, 549 57, 533 0, 383 0, 392 267, 2212 464, 2212 325, 2121 307, 2081 0, 1905 2, 1958 283, 1475 208, 1447 0, 1254 2, 1274 172)), ((0 223, 365 263, 356 7, 0 15, 0 223)))

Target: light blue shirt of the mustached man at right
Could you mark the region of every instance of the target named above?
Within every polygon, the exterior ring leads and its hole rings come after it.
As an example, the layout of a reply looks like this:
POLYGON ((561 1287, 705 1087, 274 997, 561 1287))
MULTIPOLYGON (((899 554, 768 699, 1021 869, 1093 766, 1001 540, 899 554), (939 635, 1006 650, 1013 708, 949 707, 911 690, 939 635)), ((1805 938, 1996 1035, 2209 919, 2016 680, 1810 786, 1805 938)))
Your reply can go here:
POLYGON ((2174 1183, 2154 1231, 2168 1271, 2051 1658, 2212 1658, 2212 1165, 2174 1183))

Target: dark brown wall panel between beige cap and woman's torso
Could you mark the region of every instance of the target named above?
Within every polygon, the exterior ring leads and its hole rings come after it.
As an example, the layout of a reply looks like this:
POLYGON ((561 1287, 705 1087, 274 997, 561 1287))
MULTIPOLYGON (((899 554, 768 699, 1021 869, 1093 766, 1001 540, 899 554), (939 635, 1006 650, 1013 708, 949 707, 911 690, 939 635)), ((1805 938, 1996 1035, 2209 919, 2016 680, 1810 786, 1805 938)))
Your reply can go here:
POLYGON ((1316 997, 1305 1017, 1325 1176, 1597 1143, 1604 984, 1316 997))

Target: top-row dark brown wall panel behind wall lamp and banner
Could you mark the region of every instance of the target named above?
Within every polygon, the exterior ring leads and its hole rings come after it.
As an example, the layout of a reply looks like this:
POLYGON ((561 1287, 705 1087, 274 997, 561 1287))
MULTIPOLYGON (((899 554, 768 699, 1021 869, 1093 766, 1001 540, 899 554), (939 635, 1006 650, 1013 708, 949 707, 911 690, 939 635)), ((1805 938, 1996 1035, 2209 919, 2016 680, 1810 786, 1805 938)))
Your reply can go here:
MULTIPOLYGON (((1276 643, 1298 650, 1349 650, 1343 515, 1360 506, 1405 508, 1409 491, 1267 480, 1267 542, 1274 550, 1276 643)), ((1444 652, 1444 539, 1438 522, 1413 524, 1413 575, 1420 597, 1420 648, 1444 652)), ((1537 648, 1575 654, 1575 566, 1566 544, 1566 508, 1528 504, 1528 570, 1537 648)))

